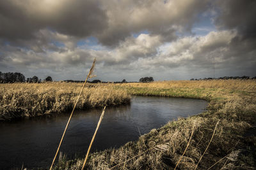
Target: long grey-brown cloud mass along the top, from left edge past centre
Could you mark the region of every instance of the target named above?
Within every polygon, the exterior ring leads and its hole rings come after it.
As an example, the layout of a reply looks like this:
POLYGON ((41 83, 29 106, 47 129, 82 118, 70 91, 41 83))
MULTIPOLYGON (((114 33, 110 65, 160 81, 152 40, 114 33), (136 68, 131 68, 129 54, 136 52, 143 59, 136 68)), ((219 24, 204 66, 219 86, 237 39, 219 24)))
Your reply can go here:
POLYGON ((166 41, 189 31, 205 1, 33 1, 0 2, 0 38, 33 39, 40 29, 68 36, 95 36, 117 45, 134 32, 147 30, 166 41))

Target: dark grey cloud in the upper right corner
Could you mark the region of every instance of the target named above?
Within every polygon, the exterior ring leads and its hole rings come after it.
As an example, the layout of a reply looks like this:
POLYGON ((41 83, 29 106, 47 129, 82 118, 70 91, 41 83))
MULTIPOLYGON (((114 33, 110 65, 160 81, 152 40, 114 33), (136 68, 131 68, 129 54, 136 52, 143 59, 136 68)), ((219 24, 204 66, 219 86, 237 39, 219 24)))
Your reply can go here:
POLYGON ((218 1, 220 15, 216 25, 221 29, 236 29, 237 36, 232 39, 231 50, 237 55, 252 52, 256 48, 256 1, 218 1))

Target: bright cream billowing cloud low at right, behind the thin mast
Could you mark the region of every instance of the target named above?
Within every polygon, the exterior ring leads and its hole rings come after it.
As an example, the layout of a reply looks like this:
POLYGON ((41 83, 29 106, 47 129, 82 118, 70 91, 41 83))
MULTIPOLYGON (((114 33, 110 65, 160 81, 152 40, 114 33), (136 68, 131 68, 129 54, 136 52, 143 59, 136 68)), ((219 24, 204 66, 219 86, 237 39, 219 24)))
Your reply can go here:
POLYGON ((160 51, 155 57, 138 60, 141 63, 139 67, 154 71, 186 67, 188 72, 202 74, 200 72, 207 71, 208 76, 212 76, 214 60, 219 76, 223 74, 224 70, 225 73, 232 76, 236 74, 241 76, 245 73, 253 76, 256 71, 256 60, 253 59, 256 50, 241 53, 239 51, 241 48, 234 49, 232 39, 236 36, 236 31, 212 31, 206 36, 180 38, 160 46, 160 51), (241 54, 243 58, 241 58, 241 54))

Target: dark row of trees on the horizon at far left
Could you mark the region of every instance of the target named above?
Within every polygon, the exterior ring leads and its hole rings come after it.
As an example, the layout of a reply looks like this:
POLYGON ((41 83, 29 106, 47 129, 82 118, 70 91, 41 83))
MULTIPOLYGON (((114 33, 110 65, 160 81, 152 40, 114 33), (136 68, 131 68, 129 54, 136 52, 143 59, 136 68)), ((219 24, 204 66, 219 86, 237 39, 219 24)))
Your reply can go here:
MULTIPOLYGON (((43 81, 52 81, 51 76, 47 76, 43 81)), ((41 83, 42 80, 37 76, 33 76, 32 78, 27 78, 22 73, 2 73, 0 71, 0 83, 41 83)))

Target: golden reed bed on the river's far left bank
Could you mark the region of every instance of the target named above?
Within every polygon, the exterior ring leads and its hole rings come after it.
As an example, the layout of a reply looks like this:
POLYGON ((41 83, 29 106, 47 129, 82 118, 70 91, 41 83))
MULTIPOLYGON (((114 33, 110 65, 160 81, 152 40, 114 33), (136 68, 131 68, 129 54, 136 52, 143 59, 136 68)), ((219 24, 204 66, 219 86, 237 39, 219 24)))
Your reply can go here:
MULTIPOLYGON (((0 84, 0 121, 36 117, 72 110, 83 83, 3 83, 0 84)), ((118 106, 130 102, 125 90, 113 85, 86 85, 77 110, 118 106)))

